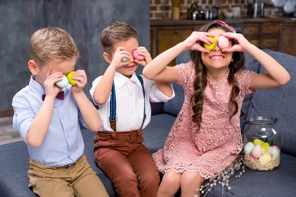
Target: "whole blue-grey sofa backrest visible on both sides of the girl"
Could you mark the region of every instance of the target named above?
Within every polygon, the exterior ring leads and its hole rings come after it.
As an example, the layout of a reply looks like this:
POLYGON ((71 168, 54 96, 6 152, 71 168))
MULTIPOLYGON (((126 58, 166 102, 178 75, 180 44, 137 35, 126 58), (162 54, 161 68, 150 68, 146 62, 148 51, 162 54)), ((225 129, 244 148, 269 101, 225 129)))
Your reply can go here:
MULTIPOLYGON (((241 129, 243 129, 246 120, 256 116, 267 116, 277 118, 275 130, 281 132, 282 151, 296 156, 296 57, 275 52, 263 50, 282 66, 284 66, 291 76, 291 81, 280 88, 271 90, 257 90, 257 93, 248 95, 242 106, 240 117, 241 129)), ((266 72, 264 68, 252 56, 245 53, 247 70, 257 73, 266 72)), ((188 51, 180 54, 176 59, 176 64, 190 61, 188 51)), ((173 83, 176 97, 164 104, 164 112, 177 116, 184 102, 183 87, 173 83)), ((247 127, 244 129, 246 130, 247 127)))

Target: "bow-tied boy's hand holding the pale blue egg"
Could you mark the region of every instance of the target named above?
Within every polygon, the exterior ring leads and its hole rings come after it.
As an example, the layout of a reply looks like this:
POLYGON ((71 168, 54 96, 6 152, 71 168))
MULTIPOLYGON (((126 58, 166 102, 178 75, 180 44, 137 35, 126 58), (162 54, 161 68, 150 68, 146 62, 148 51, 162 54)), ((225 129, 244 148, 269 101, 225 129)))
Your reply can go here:
POLYGON ((58 93, 63 89, 55 85, 57 81, 62 81, 63 72, 51 73, 52 67, 49 66, 45 75, 45 81, 43 83, 46 97, 55 99, 58 93))

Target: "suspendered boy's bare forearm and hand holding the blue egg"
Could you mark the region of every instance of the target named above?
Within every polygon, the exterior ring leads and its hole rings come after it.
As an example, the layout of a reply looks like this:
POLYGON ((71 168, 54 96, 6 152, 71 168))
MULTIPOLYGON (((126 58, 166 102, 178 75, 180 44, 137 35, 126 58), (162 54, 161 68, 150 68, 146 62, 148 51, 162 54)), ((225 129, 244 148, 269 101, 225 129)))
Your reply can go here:
POLYGON ((118 47, 113 55, 112 62, 109 63, 110 66, 105 71, 102 79, 98 83, 98 85, 95 88, 93 98, 96 103, 99 105, 103 105, 107 102, 110 93, 111 88, 114 80, 115 70, 120 66, 125 66, 130 63, 130 61, 127 62, 121 62, 122 58, 129 58, 129 53, 126 51, 124 47, 118 47))

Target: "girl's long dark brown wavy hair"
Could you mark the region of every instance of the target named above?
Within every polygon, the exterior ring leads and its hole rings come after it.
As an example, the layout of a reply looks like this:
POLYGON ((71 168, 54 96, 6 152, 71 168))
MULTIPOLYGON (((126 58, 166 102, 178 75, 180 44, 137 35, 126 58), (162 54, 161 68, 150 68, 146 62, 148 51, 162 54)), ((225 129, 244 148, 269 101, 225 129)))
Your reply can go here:
MULTIPOLYGON (((222 29, 225 32, 231 32, 228 28, 220 25, 219 23, 210 23, 206 26, 203 26, 199 32, 208 32, 210 29, 222 29)), ((201 46, 203 46, 202 41, 198 41, 201 46)), ((232 44, 236 44, 236 40, 232 39, 231 40, 232 44)), ((195 79, 194 79, 194 93, 191 96, 191 102, 193 104, 192 110, 194 112, 194 115, 192 115, 192 121, 196 123, 197 125, 197 131, 200 131, 200 124, 201 124, 201 114, 203 111, 203 92, 207 86, 207 71, 206 67, 202 62, 201 59, 201 54, 202 52, 200 51, 190 51, 190 57, 192 62, 194 63, 194 68, 195 68, 195 79)), ((243 52, 233 52, 233 62, 230 62, 229 64, 229 75, 228 75, 228 83, 232 85, 231 89, 231 96, 229 99, 229 102, 233 105, 234 111, 231 114, 229 118, 229 122, 231 123, 232 117, 237 114, 238 112, 238 104, 235 100, 236 96, 239 94, 239 87, 237 80, 234 76, 234 73, 236 73, 238 70, 243 70, 244 69, 244 64, 245 64, 245 54, 243 52)), ((233 126, 233 125, 232 125, 233 126)))

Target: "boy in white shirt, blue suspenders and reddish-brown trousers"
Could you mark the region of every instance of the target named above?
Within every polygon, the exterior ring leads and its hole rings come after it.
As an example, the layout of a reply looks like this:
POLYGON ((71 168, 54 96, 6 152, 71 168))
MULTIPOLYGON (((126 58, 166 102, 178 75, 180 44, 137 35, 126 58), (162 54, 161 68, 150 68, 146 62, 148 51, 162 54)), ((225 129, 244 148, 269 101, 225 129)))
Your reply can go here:
POLYGON ((169 101, 175 96, 173 88, 168 82, 136 75, 139 64, 146 66, 152 59, 145 47, 139 47, 138 33, 130 25, 110 24, 101 34, 101 43, 110 66, 90 90, 102 120, 94 138, 95 162, 112 180, 119 197, 155 197, 159 173, 142 144, 142 129, 150 122, 149 101, 169 101))

